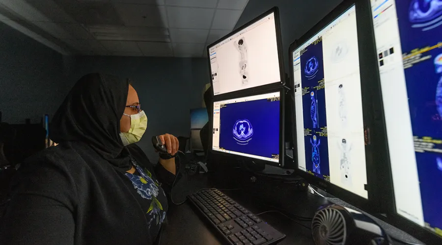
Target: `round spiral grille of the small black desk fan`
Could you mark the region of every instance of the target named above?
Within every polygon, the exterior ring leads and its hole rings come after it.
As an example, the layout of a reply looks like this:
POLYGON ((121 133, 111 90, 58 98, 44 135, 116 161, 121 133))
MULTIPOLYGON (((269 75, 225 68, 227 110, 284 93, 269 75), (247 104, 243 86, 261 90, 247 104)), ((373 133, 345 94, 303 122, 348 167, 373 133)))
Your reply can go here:
POLYGON ((344 216, 336 209, 324 208, 316 212, 311 224, 316 245, 344 245, 346 224, 344 216))

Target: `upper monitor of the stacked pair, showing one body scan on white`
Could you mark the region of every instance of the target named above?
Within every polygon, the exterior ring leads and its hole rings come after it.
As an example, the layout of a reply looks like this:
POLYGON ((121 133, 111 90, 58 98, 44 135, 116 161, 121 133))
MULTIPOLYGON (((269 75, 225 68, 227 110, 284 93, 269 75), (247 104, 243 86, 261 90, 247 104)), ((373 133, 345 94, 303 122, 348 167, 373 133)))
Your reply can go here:
POLYGON ((279 15, 273 8, 207 47, 214 95, 281 85, 279 15))

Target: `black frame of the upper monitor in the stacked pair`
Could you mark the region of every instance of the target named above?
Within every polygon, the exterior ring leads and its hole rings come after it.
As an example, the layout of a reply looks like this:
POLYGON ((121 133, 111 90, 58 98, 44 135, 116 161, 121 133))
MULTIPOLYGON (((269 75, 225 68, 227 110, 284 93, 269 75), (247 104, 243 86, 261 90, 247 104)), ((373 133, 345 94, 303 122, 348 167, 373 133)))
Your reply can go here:
POLYGON ((275 83, 271 83, 271 84, 267 84, 267 85, 257 86, 257 87, 253 87, 253 88, 233 91, 233 92, 219 94, 219 95, 215 95, 215 92, 214 92, 214 98, 215 99, 218 99, 218 97, 224 97, 224 96, 230 96, 230 97, 235 98, 235 97, 241 96, 241 95, 243 95, 245 93, 253 93, 253 92, 258 92, 258 91, 261 91, 261 90, 271 89, 271 88, 275 88, 275 87, 281 87, 281 86, 285 85, 284 60, 283 60, 283 55, 282 55, 283 49, 282 49, 282 39, 281 39, 281 27, 280 27, 281 25, 280 25, 280 21, 279 21, 279 10, 278 10, 278 8, 276 6, 271 8, 271 9, 269 9, 268 11, 266 11, 263 14, 261 14, 260 16, 254 18, 253 20, 249 21, 248 23, 246 23, 246 24, 244 24, 244 25, 234 29, 229 34, 223 36, 222 38, 220 38, 216 42, 214 42, 211 45, 207 46, 207 57, 208 57, 207 61, 208 61, 208 64, 209 64, 209 78, 210 78, 210 83, 212 84, 212 87, 213 87, 212 66, 210 64, 210 51, 209 50, 212 47, 214 47, 215 45, 221 43, 223 40, 225 40, 229 36, 232 36, 233 34, 235 34, 237 32, 240 32, 241 30, 246 29, 250 25, 254 24, 255 22, 257 22, 259 20, 261 20, 262 18, 264 18, 265 16, 271 14, 272 12, 275 13, 276 46, 277 46, 277 50, 278 50, 280 81, 275 82, 275 83))

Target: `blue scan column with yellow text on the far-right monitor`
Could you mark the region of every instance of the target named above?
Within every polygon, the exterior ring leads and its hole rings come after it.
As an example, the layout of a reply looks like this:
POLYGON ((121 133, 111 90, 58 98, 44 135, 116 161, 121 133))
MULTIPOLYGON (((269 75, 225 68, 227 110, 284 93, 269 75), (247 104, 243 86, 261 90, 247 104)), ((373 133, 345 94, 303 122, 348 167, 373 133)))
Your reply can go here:
POLYGON ((442 229, 442 0, 396 0, 424 220, 442 229), (439 171, 438 171, 439 170, 439 171))

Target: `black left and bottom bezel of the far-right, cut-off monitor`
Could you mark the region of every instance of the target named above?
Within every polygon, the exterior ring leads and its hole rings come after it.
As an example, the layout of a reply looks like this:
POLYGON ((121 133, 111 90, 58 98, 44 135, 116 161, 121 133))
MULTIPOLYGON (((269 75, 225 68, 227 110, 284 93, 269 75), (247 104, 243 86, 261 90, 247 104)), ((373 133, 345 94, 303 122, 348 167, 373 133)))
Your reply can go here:
MULTIPOLYGON (((368 0, 367 0, 368 1, 368 0)), ((371 10, 371 4, 368 1, 368 8, 371 10)), ((374 33, 373 27, 373 15, 370 11, 370 21, 371 26, 369 27, 371 31, 374 33)), ((373 35, 373 42, 375 43, 375 36, 373 35)), ((373 56, 377 57, 377 49, 374 50, 373 56)), ((380 195, 380 199, 382 203, 382 209, 385 210, 387 215, 383 220, 387 221, 391 225, 400 228, 401 230, 412 234, 415 238, 424 242, 425 244, 442 244, 442 237, 435 234, 434 232, 424 228, 413 221, 408 220, 407 218, 399 215, 397 213, 396 208, 396 200, 394 197, 394 186, 393 186, 393 175, 391 171, 390 164, 390 153, 388 148, 387 141, 387 125, 385 121, 385 111, 384 111, 384 102, 382 99, 382 88, 381 88, 381 78, 379 75, 379 66, 376 65, 375 74, 377 75, 378 81, 372 84, 374 93, 372 94, 372 103, 375 107, 376 111, 376 120, 374 121, 373 128, 377 131, 376 134, 372 135, 372 142, 376 142, 376 154, 374 155, 374 160, 378 163, 377 167, 379 168, 379 172, 383 173, 380 176, 380 181, 385 183, 383 185, 386 190, 383 190, 382 196, 380 195)))

